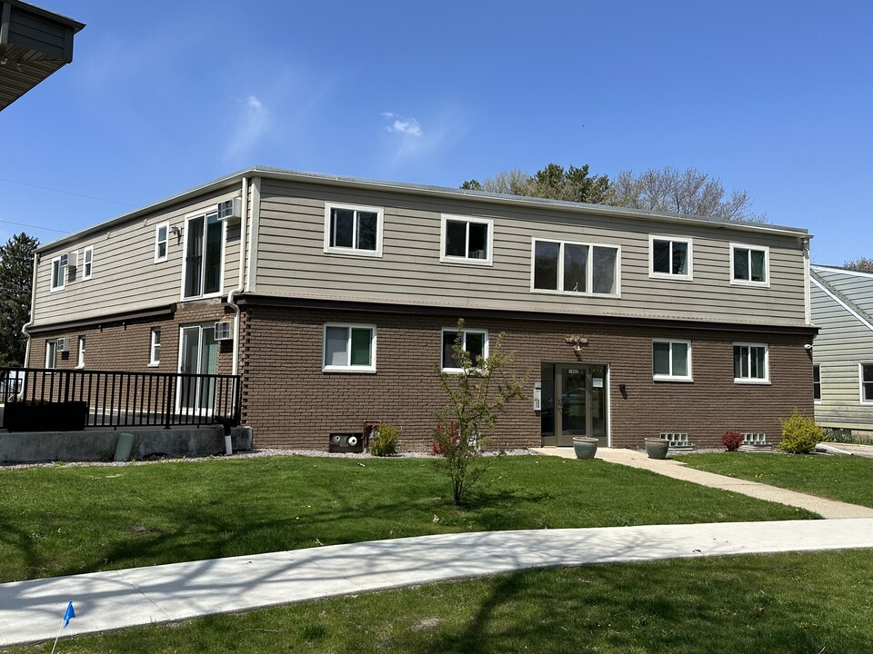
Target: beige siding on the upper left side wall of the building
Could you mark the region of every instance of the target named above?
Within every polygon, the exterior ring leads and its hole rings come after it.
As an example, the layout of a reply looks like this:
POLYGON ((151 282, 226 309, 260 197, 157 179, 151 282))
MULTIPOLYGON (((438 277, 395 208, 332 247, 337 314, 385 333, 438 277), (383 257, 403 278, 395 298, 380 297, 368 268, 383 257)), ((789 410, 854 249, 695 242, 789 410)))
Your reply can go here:
MULTIPOLYGON (((179 302, 185 240, 177 242, 176 236, 170 233, 166 262, 155 263, 156 225, 169 223, 184 232, 186 215, 212 209, 216 203, 238 193, 239 188, 235 186, 224 193, 115 225, 41 253, 36 270, 35 325, 144 311, 179 302), (91 279, 83 280, 82 254, 89 245, 94 247, 94 268, 91 279), (78 253, 75 279, 65 282, 63 290, 51 292, 52 260, 59 254, 71 252, 78 253)), ((237 283, 239 244, 240 227, 236 223, 226 230, 224 293, 237 283)))

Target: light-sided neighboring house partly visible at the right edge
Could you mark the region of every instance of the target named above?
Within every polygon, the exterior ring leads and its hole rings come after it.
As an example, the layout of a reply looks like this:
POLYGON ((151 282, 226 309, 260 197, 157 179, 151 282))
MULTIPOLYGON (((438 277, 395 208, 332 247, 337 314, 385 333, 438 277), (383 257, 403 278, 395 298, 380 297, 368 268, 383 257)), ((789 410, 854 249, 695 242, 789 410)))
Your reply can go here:
POLYGON ((873 431, 873 274, 810 267, 816 420, 873 431))

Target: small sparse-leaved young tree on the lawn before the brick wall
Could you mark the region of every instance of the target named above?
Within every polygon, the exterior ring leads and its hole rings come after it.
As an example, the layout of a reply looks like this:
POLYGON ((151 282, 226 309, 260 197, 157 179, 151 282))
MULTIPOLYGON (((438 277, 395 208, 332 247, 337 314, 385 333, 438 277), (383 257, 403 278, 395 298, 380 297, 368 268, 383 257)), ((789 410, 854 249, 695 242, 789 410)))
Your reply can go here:
POLYGON ((507 375, 513 356, 503 351, 505 333, 497 335, 487 359, 477 356, 475 360, 464 350, 463 333, 464 321, 459 320, 452 354, 461 372, 444 372, 439 362, 436 364, 448 403, 437 411, 433 451, 442 457, 440 465, 445 466, 451 480, 456 506, 497 460, 483 459, 482 448, 491 442, 490 432, 507 404, 525 397, 527 380, 527 373, 522 378, 515 373, 507 375))

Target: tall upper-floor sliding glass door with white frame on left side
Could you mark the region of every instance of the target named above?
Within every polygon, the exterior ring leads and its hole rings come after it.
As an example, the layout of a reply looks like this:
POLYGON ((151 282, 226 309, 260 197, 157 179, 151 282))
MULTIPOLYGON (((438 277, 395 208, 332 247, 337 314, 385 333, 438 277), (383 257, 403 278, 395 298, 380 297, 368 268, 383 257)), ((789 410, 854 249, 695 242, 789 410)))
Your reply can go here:
POLYGON ((186 219, 183 300, 221 292, 223 236, 224 225, 218 220, 218 212, 186 219))

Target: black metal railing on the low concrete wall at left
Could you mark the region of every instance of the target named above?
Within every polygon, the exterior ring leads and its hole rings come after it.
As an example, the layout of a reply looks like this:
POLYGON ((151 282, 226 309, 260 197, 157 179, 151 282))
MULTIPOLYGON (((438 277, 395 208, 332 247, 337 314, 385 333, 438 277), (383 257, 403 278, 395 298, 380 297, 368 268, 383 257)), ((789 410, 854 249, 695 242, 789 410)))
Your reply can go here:
POLYGON ((0 401, 85 402, 88 427, 238 425, 239 375, 0 368, 0 401))

